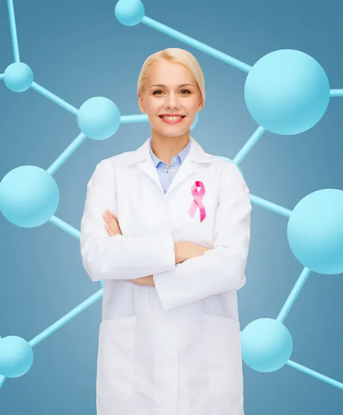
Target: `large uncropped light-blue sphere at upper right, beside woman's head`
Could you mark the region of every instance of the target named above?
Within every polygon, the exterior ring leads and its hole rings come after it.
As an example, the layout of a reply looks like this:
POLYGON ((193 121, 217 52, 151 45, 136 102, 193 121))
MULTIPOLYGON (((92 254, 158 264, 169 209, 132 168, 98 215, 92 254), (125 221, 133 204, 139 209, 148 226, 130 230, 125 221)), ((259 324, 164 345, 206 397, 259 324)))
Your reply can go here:
POLYGON ((322 66, 299 50, 276 50, 257 61, 245 82, 245 104, 261 127, 302 133, 324 116, 330 85, 322 66))

